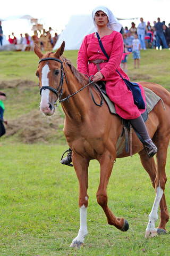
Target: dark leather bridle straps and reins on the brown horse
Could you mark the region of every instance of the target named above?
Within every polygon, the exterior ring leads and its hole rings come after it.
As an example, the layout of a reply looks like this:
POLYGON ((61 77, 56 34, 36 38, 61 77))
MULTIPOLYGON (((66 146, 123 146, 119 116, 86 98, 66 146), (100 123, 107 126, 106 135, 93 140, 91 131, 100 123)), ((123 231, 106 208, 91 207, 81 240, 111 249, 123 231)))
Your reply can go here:
MULTIPOLYGON (((47 61, 47 60, 54 60, 54 61, 57 61, 57 62, 60 62, 61 63, 61 79, 60 79, 60 85, 57 87, 57 89, 53 88, 52 86, 42 86, 40 88, 40 95, 41 95, 41 92, 45 89, 48 89, 52 92, 54 92, 56 95, 57 95, 57 98, 59 99, 59 103, 61 102, 64 102, 64 101, 67 101, 69 102, 69 98, 71 98, 73 95, 77 94, 78 92, 82 91, 84 88, 86 88, 87 86, 90 85, 90 93, 91 93, 91 97, 92 97, 92 100, 94 101, 94 103, 101 107, 103 106, 103 96, 102 96, 102 92, 101 90, 99 89, 98 85, 95 84, 93 81, 91 81, 91 77, 89 77, 89 83, 85 86, 83 86, 80 90, 78 90, 77 92, 74 92, 73 94, 71 95, 68 95, 66 98, 63 98, 62 99, 62 95, 63 95, 63 80, 64 80, 64 77, 65 77, 65 81, 67 83, 67 79, 66 79, 66 75, 65 75, 65 71, 64 71, 64 68, 63 68, 63 62, 60 60, 60 59, 57 59, 57 58, 44 58, 44 59, 40 59, 38 63, 40 63, 41 61, 47 61), (98 91, 99 95, 100 95, 100 98, 101 98, 101 101, 100 101, 100 104, 98 104, 96 101, 95 101, 95 98, 94 98, 94 95, 92 93, 92 90, 91 90, 91 84, 95 87, 95 89, 98 91)), ((54 105, 58 106, 57 102, 54 103, 54 105)))

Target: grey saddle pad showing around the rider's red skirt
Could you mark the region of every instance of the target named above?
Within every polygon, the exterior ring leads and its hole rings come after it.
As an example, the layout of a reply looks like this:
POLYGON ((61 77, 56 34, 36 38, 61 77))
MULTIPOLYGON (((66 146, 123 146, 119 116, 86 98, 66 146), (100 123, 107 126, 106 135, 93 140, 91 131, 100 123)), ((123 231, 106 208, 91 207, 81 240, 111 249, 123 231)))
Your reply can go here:
MULTIPOLYGON (((144 91, 145 91, 145 97, 146 97, 146 102, 147 102, 147 112, 148 114, 150 113, 150 111, 155 107, 155 105, 158 103, 159 100, 162 100, 156 93, 152 92, 150 89, 143 87, 144 91)), ((108 96, 103 93, 103 98, 107 103, 107 106, 109 108, 109 111, 111 112, 111 114, 115 114, 116 115, 116 110, 115 110, 115 106, 114 103, 108 98, 108 96)))

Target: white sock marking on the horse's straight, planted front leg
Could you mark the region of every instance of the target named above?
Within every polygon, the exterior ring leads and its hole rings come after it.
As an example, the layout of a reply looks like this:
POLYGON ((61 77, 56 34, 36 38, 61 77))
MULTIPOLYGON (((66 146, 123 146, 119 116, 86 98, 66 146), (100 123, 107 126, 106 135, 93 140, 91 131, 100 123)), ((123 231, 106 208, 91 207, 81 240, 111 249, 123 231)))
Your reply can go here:
POLYGON ((78 236, 75 237, 70 247, 80 247, 84 242, 84 238, 87 236, 87 207, 83 204, 80 207, 80 229, 78 236))

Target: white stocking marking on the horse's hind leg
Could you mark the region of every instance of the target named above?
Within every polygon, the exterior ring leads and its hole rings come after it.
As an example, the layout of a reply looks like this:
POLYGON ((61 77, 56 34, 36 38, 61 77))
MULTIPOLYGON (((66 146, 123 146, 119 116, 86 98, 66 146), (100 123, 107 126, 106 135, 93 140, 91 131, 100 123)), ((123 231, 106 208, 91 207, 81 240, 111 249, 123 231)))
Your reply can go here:
POLYGON ((160 203, 160 200, 161 200, 163 194, 164 194, 163 189, 160 186, 157 187, 155 201, 152 206, 152 210, 149 214, 149 222, 148 222, 148 226, 146 228, 147 234, 157 233, 157 229, 155 228, 155 222, 158 219, 158 207, 159 207, 159 203, 160 203))

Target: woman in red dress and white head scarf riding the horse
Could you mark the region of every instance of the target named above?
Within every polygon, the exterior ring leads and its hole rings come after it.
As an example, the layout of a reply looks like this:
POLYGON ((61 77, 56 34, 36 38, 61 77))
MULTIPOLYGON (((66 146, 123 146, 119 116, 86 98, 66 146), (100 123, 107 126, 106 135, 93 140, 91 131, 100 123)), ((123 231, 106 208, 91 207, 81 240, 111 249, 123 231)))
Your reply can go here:
MULTIPOLYGON (((81 44, 77 59, 78 70, 86 76, 92 76, 94 82, 105 81, 107 95, 114 102, 116 113, 130 120, 134 130, 142 138, 148 157, 152 157, 157 153, 157 147, 149 137, 147 127, 141 117, 146 109, 138 109, 134 104, 132 92, 122 79, 123 77, 129 80, 128 75, 120 67, 124 46, 122 35, 119 33, 122 25, 105 6, 96 7, 92 11, 92 19, 109 60, 100 48, 97 33, 92 33, 85 36, 81 44)), ((141 85, 139 86, 145 100, 144 90, 141 85)), ((70 164, 70 161, 71 150, 61 160, 61 163, 70 164)))

